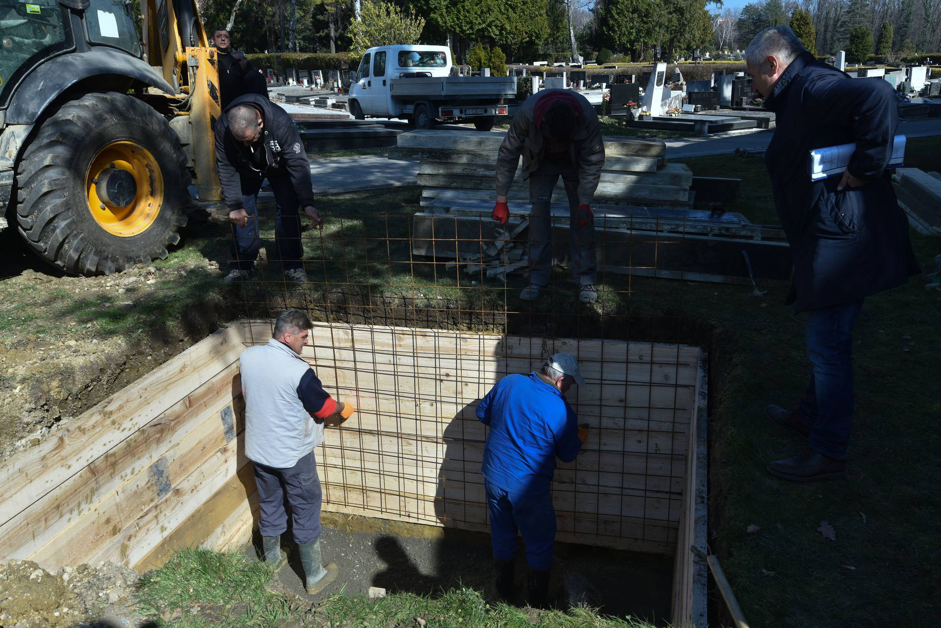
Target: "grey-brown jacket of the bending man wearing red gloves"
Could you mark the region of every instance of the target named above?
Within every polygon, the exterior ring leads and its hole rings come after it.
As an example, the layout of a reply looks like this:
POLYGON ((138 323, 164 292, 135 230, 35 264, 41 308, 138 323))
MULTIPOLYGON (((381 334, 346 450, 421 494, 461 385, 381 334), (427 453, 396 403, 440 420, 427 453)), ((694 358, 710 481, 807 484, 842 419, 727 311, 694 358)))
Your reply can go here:
MULTIPOLYGON (((506 196, 513 183, 519 163, 523 156, 523 178, 539 167, 542 162, 542 135, 535 127, 533 114, 535 104, 560 89, 543 89, 526 99, 517 115, 513 117, 510 130, 503 137, 500 153, 497 156, 497 195, 506 196)), ((571 162, 579 170, 579 204, 590 205, 598 189, 601 169, 604 167, 604 142, 601 140, 601 125, 595 107, 577 92, 570 92, 582 103, 582 126, 575 132, 574 141, 569 148, 571 162)))

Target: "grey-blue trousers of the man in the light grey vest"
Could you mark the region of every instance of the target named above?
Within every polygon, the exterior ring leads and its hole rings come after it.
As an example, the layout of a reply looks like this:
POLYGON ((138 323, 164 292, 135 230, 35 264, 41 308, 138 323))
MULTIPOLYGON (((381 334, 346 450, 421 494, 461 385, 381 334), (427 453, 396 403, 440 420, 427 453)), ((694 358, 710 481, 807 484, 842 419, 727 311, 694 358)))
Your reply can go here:
POLYGON ((297 460, 289 469, 276 469, 258 462, 255 486, 261 505, 258 529, 263 537, 278 537, 288 529, 285 498, 291 506, 291 529, 296 543, 310 543, 320 537, 320 507, 323 492, 313 452, 297 460))

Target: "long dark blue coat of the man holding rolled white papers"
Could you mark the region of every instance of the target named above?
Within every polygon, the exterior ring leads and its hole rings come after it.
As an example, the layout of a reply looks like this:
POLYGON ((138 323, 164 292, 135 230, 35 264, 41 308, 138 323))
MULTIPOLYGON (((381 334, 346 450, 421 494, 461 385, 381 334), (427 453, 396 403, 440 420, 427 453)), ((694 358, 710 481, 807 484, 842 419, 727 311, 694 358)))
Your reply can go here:
POLYGON ((814 56, 795 58, 765 106, 776 129, 765 161, 794 259, 787 302, 798 312, 894 288, 919 272, 908 220, 885 170, 899 126, 895 90, 851 78, 814 56), (837 192, 839 176, 810 181, 811 149, 856 144, 850 173, 869 181, 837 192))

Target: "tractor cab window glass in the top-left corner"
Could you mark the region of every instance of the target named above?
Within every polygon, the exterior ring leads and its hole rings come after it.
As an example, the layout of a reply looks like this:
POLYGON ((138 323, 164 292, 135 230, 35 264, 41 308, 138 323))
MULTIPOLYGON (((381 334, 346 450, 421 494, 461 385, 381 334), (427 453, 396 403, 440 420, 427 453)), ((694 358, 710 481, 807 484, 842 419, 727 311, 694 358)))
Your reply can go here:
POLYGON ((65 40, 56 0, 0 0, 0 90, 7 90, 17 70, 39 61, 40 53, 63 47, 65 40))

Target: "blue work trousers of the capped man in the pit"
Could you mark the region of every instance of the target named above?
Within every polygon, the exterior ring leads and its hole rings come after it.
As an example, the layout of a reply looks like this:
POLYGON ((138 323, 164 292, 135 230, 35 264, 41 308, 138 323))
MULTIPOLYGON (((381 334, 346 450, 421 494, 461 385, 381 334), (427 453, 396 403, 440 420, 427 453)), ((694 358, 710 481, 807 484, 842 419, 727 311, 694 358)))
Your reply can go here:
POLYGON ((517 556, 517 531, 526 545, 526 562, 535 571, 552 565, 555 542, 555 509, 550 491, 518 493, 504 491, 484 480, 486 505, 490 511, 490 542, 493 557, 512 560, 517 556))

